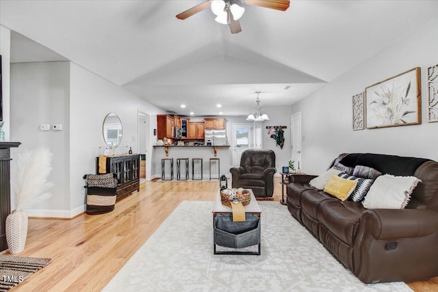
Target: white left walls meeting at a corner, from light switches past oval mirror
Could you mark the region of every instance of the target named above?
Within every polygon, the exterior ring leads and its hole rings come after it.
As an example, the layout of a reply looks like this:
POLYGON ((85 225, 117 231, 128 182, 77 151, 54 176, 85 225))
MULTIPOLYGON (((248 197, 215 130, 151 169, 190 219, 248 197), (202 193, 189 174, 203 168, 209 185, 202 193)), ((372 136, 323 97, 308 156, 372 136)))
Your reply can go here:
POLYGON ((82 177, 95 173, 99 146, 105 147, 102 125, 108 113, 122 121, 123 139, 116 154, 123 154, 126 146, 138 152, 138 111, 153 115, 151 129, 157 127, 155 115, 164 112, 71 62, 12 64, 11 75, 11 137, 22 142, 12 155, 36 146, 53 152, 53 196, 26 210, 29 216, 73 217, 85 211, 82 177), (40 124, 63 124, 64 129, 40 131, 40 124))

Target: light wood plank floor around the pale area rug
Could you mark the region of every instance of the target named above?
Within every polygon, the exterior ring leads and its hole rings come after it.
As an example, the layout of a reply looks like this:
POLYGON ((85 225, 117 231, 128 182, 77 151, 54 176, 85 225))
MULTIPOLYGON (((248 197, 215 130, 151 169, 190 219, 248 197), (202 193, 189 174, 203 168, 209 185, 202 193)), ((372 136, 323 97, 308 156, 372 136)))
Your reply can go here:
MULTIPOLYGON (((279 204, 281 185, 275 179, 272 203, 279 204)), ((73 220, 29 219, 26 248, 16 255, 53 261, 13 291, 100 291, 181 201, 214 200, 218 186, 146 182, 140 192, 117 202, 111 213, 73 220)), ((438 277, 409 286, 438 291, 438 277)))

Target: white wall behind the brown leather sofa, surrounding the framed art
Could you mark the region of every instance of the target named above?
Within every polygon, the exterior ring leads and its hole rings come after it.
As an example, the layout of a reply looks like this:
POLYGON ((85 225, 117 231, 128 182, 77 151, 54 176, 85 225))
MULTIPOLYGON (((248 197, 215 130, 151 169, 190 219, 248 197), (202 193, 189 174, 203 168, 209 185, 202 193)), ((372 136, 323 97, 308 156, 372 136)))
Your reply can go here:
MULTIPOLYGON (((426 68, 438 62, 438 17, 292 106, 302 113, 302 170, 320 174, 342 152, 374 152, 438 160, 438 122, 427 122, 426 68), (352 131, 352 96, 421 67, 422 124, 352 131)), ((354 52, 352 52, 354 53, 354 52)))

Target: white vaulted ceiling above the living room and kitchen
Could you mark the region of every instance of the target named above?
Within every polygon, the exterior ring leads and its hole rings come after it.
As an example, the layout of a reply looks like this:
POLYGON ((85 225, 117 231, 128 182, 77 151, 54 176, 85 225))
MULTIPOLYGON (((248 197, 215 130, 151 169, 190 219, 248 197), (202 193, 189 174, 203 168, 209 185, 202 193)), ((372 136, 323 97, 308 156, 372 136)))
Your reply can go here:
POLYGON ((175 17, 202 2, 0 0, 0 24, 18 33, 12 62, 65 58, 168 111, 231 116, 252 111, 256 91, 261 105, 292 105, 438 14, 421 0, 242 4, 240 34, 209 9, 175 17))

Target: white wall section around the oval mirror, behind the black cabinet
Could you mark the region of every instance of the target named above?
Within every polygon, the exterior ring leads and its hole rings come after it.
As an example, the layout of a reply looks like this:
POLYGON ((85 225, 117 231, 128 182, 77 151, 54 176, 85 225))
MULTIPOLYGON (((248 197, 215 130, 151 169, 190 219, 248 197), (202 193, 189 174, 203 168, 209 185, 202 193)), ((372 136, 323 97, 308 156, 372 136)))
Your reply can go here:
MULTIPOLYGON (((104 147, 102 124, 105 116, 117 114, 123 125, 123 138, 116 154, 126 152, 126 146, 138 152, 138 111, 154 115, 151 129, 156 128, 155 115, 163 113, 144 99, 120 86, 71 63, 70 65, 70 208, 74 215, 83 211, 84 174, 96 172, 95 157, 104 147)), ((152 131, 153 132, 153 131, 152 131)), ((151 137, 151 141, 156 141, 151 137)), ((151 154, 153 155, 153 154, 151 154)), ((148 159, 151 160, 151 159, 148 159)))

